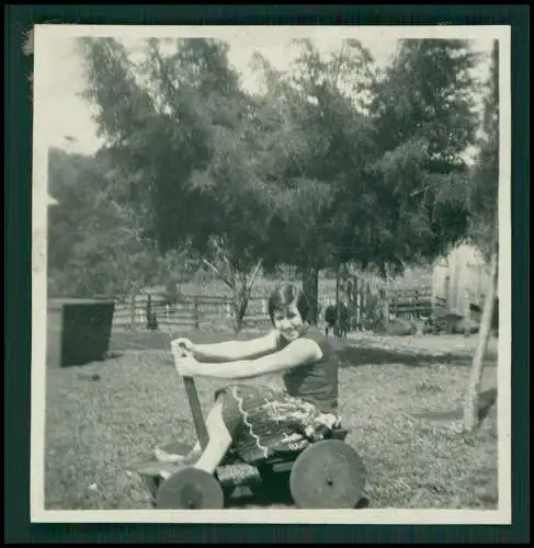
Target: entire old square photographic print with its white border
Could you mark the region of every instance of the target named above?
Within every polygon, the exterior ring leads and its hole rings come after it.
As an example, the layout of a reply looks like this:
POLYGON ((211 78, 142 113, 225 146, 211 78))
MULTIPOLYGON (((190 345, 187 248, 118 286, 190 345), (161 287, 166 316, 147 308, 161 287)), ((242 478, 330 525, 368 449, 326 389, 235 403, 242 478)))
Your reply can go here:
POLYGON ((33 44, 32 521, 510 523, 510 28, 33 44))

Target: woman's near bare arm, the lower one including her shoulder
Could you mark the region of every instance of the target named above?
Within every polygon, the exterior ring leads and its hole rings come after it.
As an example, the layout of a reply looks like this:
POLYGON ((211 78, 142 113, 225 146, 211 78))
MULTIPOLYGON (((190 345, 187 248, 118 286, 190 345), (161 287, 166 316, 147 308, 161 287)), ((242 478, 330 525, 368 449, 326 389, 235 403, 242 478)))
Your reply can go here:
POLYGON ((316 342, 298 339, 280 352, 257 359, 239 359, 223 365, 203 363, 197 375, 224 379, 246 379, 308 365, 321 357, 322 352, 316 342))

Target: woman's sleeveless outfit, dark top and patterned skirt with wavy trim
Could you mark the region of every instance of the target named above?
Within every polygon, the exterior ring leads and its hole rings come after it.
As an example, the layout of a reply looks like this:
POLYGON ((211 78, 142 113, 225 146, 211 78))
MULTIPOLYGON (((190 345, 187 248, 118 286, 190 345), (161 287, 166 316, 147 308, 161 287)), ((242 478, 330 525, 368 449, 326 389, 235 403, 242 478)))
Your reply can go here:
MULTIPOLYGON (((232 450, 247 463, 259 463, 280 449, 302 449, 320 439, 326 430, 340 426, 336 353, 315 328, 308 328, 302 338, 315 341, 322 357, 289 369, 283 377, 284 391, 235 384, 215 395, 223 402, 232 450)), ((277 350, 286 345, 281 341, 277 350)))

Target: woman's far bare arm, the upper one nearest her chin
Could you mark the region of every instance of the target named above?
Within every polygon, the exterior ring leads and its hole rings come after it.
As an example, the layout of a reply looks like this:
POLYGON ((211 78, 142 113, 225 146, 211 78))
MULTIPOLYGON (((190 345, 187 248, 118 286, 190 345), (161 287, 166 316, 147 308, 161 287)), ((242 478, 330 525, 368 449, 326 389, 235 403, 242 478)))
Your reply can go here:
POLYGON ((252 359, 276 350, 277 332, 250 341, 225 341, 214 344, 195 344, 194 355, 198 362, 236 362, 252 359))

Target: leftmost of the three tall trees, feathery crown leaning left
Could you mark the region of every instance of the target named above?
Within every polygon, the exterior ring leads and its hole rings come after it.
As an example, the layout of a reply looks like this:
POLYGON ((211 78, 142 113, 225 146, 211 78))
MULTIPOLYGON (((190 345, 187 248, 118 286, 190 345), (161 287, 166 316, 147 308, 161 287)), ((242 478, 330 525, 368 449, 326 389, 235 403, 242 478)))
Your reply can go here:
POLYGON ((84 41, 100 132, 130 176, 132 204, 148 204, 161 251, 200 254, 234 292, 240 329, 266 246, 273 203, 255 173, 253 102, 212 39, 150 39, 134 65, 116 41, 84 41), (167 50, 166 50, 167 49, 167 50))

